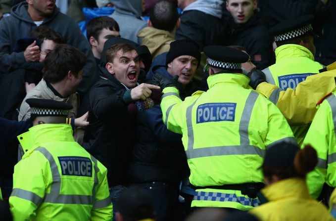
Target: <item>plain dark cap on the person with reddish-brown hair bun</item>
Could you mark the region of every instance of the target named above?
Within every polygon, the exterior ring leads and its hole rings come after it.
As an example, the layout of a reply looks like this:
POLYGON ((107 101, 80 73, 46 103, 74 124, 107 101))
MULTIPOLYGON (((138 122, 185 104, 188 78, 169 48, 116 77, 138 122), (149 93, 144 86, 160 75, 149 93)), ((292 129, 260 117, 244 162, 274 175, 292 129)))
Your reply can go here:
POLYGON ((263 167, 294 168, 295 154, 300 150, 296 144, 280 142, 266 152, 263 167))

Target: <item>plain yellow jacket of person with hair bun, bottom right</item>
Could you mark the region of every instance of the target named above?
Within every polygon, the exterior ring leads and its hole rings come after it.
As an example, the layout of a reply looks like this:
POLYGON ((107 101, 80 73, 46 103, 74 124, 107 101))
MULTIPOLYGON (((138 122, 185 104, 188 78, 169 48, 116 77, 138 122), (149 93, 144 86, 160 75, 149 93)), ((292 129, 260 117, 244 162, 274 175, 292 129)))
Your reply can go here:
POLYGON ((310 198, 302 178, 280 180, 261 192, 269 202, 249 211, 260 221, 334 221, 323 204, 310 198))

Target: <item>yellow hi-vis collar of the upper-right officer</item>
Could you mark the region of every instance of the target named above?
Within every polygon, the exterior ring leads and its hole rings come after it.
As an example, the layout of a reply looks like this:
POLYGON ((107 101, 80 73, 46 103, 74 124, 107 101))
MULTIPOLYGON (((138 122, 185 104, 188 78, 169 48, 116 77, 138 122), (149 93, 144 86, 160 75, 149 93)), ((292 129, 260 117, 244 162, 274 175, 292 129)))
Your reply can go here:
POLYGON ((299 44, 284 44, 275 49, 276 63, 282 59, 292 57, 307 57, 314 61, 313 53, 306 47, 299 44))

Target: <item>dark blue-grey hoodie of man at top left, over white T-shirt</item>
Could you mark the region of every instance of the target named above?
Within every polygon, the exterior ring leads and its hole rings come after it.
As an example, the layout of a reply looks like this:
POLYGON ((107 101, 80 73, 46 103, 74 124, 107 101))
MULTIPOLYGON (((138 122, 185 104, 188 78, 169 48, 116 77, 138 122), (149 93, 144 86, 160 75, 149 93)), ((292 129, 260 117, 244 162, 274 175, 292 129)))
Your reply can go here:
MULTIPOLYGON (((26 59, 22 52, 13 52, 14 45, 19 38, 28 36, 37 26, 30 18, 28 3, 21 2, 11 9, 11 16, 0 20, 0 72, 9 73, 20 68, 26 59)), ((70 44, 87 57, 87 64, 84 67, 83 80, 78 87, 80 92, 85 92, 91 86, 95 78, 96 62, 91 47, 80 31, 77 23, 69 16, 59 12, 55 6, 50 17, 46 18, 42 25, 59 32, 65 39, 66 44, 70 44)))

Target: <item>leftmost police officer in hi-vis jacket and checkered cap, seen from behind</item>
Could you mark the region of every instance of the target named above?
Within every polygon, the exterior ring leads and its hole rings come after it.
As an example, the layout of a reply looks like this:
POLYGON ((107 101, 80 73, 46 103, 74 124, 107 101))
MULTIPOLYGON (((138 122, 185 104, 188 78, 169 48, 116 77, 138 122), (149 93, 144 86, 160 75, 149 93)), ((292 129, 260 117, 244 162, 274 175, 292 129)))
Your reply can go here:
POLYGON ((63 124, 71 105, 27 99, 33 127, 18 136, 28 151, 15 165, 9 197, 14 221, 112 219, 106 168, 63 124))

